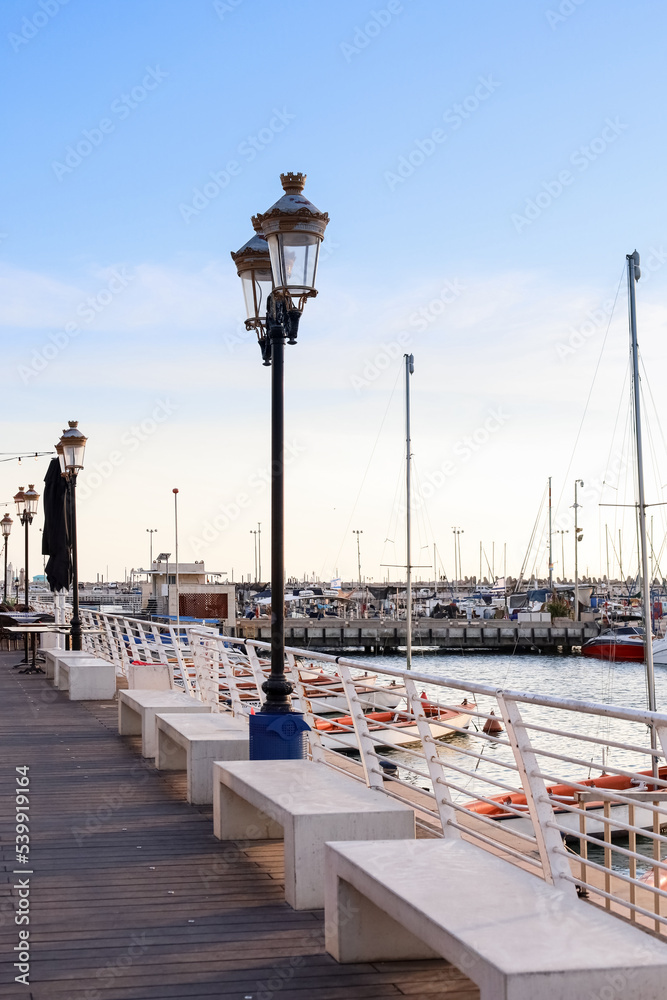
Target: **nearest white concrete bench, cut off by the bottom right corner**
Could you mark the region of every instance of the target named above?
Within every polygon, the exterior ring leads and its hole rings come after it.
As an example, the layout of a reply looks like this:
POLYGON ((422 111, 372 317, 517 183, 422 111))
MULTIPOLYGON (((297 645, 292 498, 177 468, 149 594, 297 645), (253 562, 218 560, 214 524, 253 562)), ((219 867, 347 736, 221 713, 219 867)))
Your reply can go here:
POLYGON ((664 1000, 667 944, 462 840, 330 843, 326 949, 442 957, 481 1000, 664 1000))

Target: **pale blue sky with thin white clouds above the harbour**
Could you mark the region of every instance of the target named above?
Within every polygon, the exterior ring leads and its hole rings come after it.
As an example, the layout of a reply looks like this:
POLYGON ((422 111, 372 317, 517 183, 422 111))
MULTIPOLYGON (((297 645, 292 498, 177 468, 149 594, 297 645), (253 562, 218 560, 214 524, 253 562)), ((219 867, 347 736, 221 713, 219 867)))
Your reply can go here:
MULTIPOLYGON (((331 221, 286 354, 287 573, 356 577, 359 530, 362 575, 401 575, 406 352, 418 576, 434 544, 455 575, 454 527, 463 574, 480 543, 482 575, 544 574, 550 476, 556 576, 576 478, 580 569, 611 539, 631 571, 634 512, 600 504, 634 502, 635 248, 667 499, 666 29, 660 0, 5 0, 1 450, 79 421, 81 577, 146 566, 147 528, 173 553, 174 488, 182 561, 254 577, 260 523, 268 577, 270 372, 229 254, 289 170, 331 221)), ((47 464, 0 463, 0 501, 47 464)))

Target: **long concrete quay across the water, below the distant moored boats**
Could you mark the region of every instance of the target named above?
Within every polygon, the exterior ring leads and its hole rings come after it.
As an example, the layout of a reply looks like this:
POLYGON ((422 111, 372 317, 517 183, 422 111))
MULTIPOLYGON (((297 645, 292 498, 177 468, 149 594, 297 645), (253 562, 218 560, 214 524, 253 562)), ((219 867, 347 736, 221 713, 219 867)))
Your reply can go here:
MULTIPOLYGON (((234 635, 242 639, 271 641, 268 618, 240 619, 234 635)), ((478 622, 452 622, 421 618, 413 622, 414 646, 460 653, 571 653, 598 635, 593 622, 553 625, 488 618, 478 622)), ((395 653, 406 643, 404 621, 391 619, 288 618, 285 642, 303 649, 363 649, 364 653, 395 653)))

